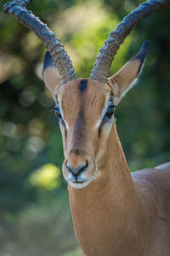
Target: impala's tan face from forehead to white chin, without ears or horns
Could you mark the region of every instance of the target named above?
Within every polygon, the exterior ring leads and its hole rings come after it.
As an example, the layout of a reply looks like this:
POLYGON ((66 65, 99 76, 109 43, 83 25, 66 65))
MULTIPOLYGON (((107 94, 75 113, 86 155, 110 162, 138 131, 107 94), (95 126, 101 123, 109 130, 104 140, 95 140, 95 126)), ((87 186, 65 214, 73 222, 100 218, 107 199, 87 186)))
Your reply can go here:
POLYGON ((74 188, 83 188, 98 171, 99 145, 110 135, 114 97, 107 84, 77 79, 59 88, 55 113, 62 132, 63 175, 74 188))

